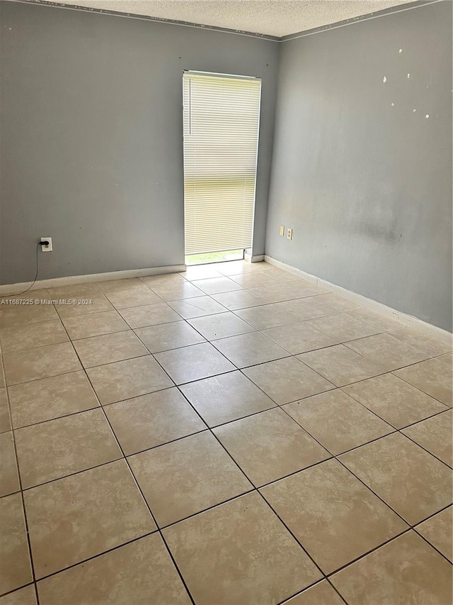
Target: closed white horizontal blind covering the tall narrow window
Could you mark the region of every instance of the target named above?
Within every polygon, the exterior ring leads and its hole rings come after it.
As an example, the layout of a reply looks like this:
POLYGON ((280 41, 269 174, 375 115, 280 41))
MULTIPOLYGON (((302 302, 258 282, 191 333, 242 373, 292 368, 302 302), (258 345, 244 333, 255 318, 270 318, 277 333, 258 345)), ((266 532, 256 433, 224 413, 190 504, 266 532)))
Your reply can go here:
POLYGON ((261 80, 185 72, 185 254, 250 248, 261 80))

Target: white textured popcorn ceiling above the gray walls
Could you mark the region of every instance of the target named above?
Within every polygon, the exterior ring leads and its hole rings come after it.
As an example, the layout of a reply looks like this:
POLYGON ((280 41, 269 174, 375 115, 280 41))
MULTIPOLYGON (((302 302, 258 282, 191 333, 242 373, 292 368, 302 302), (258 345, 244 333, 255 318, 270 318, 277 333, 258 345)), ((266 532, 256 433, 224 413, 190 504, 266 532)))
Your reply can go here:
POLYGON ((93 9, 283 35, 326 26, 412 0, 53 0, 93 9))

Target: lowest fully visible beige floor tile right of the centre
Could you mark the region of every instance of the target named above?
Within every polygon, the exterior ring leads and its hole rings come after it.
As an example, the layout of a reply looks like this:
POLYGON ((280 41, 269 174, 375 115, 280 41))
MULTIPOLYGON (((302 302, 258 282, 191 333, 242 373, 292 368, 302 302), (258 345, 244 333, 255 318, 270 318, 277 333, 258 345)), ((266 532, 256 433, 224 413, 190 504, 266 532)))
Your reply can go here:
POLYGON ((326 574, 408 528, 337 460, 293 474, 260 492, 326 574))

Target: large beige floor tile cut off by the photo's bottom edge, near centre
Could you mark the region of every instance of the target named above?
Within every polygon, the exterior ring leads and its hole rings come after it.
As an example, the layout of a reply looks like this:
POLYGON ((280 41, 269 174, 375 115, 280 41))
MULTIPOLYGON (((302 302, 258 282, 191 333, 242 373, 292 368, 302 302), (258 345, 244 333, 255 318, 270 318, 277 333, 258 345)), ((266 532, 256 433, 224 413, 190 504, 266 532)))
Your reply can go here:
POLYGON ((163 533, 197 605, 275 604, 321 579, 256 492, 163 533))

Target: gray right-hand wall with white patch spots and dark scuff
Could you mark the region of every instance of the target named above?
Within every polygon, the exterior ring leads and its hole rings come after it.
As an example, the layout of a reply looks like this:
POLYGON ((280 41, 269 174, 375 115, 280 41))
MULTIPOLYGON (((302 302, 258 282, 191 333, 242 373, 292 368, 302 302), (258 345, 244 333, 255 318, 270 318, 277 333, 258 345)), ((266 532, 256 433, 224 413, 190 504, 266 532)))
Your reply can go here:
POLYGON ((452 3, 281 47, 266 253, 451 330, 452 3))

